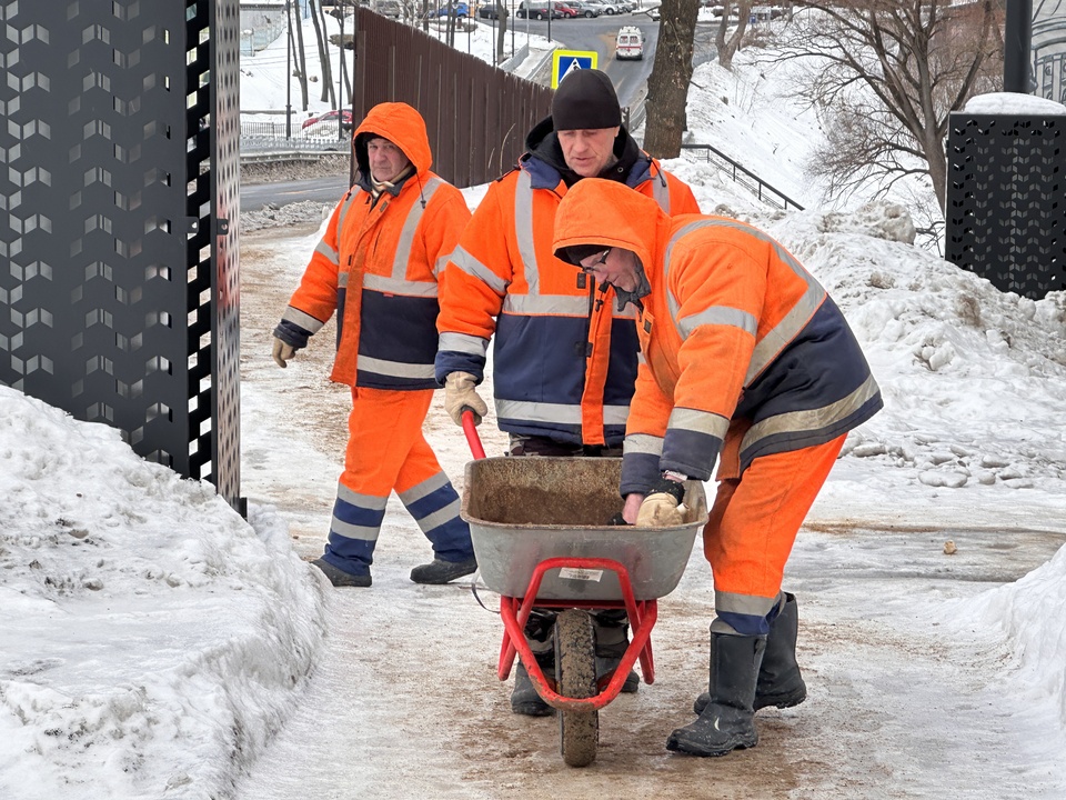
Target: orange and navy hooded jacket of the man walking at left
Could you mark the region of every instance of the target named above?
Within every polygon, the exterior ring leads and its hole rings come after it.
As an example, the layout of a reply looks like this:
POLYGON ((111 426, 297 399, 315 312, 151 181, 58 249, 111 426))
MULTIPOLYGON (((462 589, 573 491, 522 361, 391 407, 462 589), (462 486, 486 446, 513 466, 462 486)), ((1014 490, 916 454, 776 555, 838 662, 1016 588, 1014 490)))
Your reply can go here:
MULTIPOLYGON (((364 137, 365 139, 365 137, 364 137)), ((462 193, 430 171, 425 122, 381 103, 355 129, 360 181, 338 203, 275 334, 306 343, 338 312, 330 379, 373 389, 434 389, 438 279, 470 220, 462 193), (361 133, 389 139, 414 166, 374 202, 361 133)))

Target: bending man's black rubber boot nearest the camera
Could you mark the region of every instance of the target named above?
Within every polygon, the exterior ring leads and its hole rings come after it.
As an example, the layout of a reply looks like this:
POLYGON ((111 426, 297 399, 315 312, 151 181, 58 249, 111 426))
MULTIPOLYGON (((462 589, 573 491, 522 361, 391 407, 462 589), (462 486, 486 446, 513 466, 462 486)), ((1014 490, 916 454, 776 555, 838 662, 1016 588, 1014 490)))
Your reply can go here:
POLYGON ((688 756, 725 756, 755 747, 755 682, 766 637, 711 633, 710 702, 700 719, 678 728, 666 749, 688 756))

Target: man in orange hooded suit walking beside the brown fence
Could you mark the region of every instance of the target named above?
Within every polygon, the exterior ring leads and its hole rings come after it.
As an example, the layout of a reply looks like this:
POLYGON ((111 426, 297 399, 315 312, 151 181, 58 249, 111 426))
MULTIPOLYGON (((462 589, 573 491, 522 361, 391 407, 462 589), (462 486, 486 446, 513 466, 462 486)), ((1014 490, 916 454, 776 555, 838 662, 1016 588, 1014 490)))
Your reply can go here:
POLYGON ((459 496, 422 434, 436 382, 440 272, 470 210, 430 171, 425 122, 405 103, 375 106, 352 137, 355 186, 333 210, 300 287, 274 330, 273 358, 295 351, 338 316, 330 379, 352 387, 348 451, 323 556, 336 587, 369 587, 370 566, 395 490, 433 546, 416 583, 473 572, 459 496))

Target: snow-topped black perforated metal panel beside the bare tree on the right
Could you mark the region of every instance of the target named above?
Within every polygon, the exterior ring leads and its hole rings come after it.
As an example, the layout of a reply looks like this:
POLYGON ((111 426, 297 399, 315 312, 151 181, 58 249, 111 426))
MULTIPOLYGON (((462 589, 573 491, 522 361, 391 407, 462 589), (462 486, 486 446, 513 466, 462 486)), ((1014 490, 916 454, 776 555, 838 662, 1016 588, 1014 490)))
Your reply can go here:
POLYGON ((1066 116, 955 112, 946 258, 1003 291, 1066 290, 1066 116))

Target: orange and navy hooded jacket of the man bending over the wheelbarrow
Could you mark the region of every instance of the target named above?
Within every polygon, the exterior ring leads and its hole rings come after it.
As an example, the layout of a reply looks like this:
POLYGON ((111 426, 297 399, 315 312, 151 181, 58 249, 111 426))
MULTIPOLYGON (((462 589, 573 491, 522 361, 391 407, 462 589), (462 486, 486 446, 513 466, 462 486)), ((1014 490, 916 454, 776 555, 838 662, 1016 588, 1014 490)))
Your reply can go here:
POLYGON ((622 492, 662 471, 735 478, 760 456, 839 437, 883 401, 822 286, 778 242, 734 219, 668 218, 635 192, 582 181, 563 199, 555 248, 636 253, 651 284, 636 324, 643 363, 622 492))

